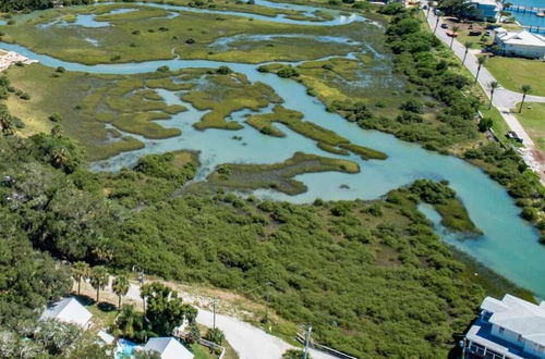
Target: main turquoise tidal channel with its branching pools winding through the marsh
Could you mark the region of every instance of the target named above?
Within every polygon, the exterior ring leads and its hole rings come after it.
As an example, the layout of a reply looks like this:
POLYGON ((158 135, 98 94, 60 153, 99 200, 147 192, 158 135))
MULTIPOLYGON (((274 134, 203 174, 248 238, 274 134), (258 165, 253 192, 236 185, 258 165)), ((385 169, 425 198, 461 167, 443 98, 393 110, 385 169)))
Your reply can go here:
MULTIPOLYGON (((275 17, 274 21, 277 20, 275 17)), ((307 96, 306 89, 294 81, 259 73, 255 65, 240 63, 167 60, 88 66, 36 54, 20 46, 0 44, 0 48, 37 59, 47 66, 64 66, 69 71, 88 73, 137 74, 155 72, 161 65, 178 70, 217 67, 228 64, 233 71, 245 74, 250 81, 261 81, 271 86, 283 98, 283 106, 302 112, 305 120, 332 129, 353 144, 367 146, 389 156, 386 161, 363 161, 355 156, 339 157, 358 162, 362 169, 361 173, 304 174, 296 177, 308 187, 304 194, 290 197, 276 191, 257 190, 255 191, 257 196, 291 202, 311 202, 318 197, 334 200, 374 199, 417 178, 448 180, 468 208, 470 216, 485 235, 475 240, 460 242, 450 236, 443 236, 444 239, 519 285, 545 297, 545 281, 543 280, 545 277, 545 265, 543 265, 545 246, 537 243, 537 232, 520 219, 520 209, 514 206, 513 200, 500 185, 492 181, 479 168, 458 158, 426 151, 417 145, 404 143, 379 132, 362 129, 340 115, 327 112, 322 102, 307 96), (348 188, 342 189, 340 185, 348 185, 348 188)), ((360 86, 373 86, 372 88, 401 86, 402 83, 398 78, 384 71, 389 69, 388 58, 373 48, 368 50, 374 51, 376 58, 382 61, 376 69, 370 70, 368 76, 365 81, 361 81, 360 86)), ((336 157, 322 151, 313 140, 282 125, 278 127, 287 134, 284 138, 265 136, 250 126, 244 126, 238 132, 196 131, 192 125, 206 113, 205 111, 197 111, 191 104, 182 102, 177 92, 159 90, 158 94, 168 103, 180 103, 189 108, 189 111, 174 115, 169 121, 158 122, 166 127, 180 128, 182 135, 164 140, 149 140, 132 135, 146 145, 143 150, 122 153, 108 161, 95 163, 94 169, 117 170, 135 163, 141 156, 146 153, 191 149, 199 151, 203 165, 198 170, 197 180, 203 180, 216 165, 226 162, 276 163, 291 158, 295 151, 336 157), (241 136, 242 140, 233 140, 234 135, 241 136)), ((270 108, 262 110, 262 112, 269 111, 270 108)), ((232 115, 232 120, 243 123, 246 113, 249 111, 239 111, 232 115)))

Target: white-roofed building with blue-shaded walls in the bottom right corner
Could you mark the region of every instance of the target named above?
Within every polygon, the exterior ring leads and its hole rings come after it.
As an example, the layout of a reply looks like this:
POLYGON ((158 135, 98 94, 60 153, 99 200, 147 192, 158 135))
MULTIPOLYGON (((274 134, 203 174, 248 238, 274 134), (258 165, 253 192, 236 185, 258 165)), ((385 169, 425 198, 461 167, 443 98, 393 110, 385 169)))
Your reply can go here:
POLYGON ((545 359, 545 301, 540 306, 506 295, 486 297, 471 326, 467 352, 491 359, 545 359))

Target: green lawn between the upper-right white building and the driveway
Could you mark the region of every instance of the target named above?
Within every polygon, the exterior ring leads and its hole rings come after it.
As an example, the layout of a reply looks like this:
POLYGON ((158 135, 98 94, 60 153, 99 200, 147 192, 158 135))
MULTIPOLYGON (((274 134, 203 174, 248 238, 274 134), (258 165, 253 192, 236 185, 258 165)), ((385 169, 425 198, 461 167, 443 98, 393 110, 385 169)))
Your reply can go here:
POLYGON ((522 85, 532 86, 531 95, 545 96, 545 63, 537 60, 494 57, 486 69, 507 89, 520 92, 522 85))

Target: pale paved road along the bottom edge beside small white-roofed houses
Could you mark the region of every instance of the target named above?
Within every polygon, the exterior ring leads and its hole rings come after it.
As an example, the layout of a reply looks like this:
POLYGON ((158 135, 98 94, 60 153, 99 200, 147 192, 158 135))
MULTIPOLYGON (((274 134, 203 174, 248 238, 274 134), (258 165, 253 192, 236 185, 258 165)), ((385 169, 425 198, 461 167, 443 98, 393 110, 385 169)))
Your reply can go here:
MULTIPOLYGON (((140 286, 131 283, 125 298, 142 300, 140 286)), ((214 313, 198 308, 197 323, 211 327, 214 313)), ((233 347, 240 359, 279 359, 286 350, 292 348, 284 341, 233 317, 216 314, 216 326, 223 331, 227 342, 233 347)), ((317 350, 311 350, 311 355, 314 359, 335 359, 335 357, 317 350)))

